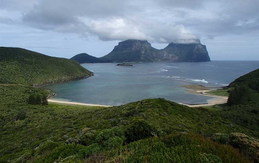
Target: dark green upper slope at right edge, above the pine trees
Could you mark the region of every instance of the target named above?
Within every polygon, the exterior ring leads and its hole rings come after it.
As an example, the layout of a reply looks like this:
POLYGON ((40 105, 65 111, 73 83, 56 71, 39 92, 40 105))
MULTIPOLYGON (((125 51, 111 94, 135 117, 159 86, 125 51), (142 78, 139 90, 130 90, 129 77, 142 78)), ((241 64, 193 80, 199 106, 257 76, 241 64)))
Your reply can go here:
POLYGON ((229 87, 234 87, 235 85, 247 85, 250 89, 259 92, 259 69, 240 76, 231 82, 229 87))

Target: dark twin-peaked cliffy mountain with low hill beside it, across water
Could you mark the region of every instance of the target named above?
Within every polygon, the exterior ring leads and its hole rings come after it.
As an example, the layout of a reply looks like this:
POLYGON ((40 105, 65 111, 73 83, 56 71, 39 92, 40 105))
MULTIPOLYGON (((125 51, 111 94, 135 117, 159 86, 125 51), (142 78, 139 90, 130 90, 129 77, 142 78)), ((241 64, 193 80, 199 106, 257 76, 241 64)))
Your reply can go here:
POLYGON ((170 43, 164 49, 153 48, 146 40, 126 40, 119 42, 112 52, 103 57, 82 53, 71 59, 79 63, 210 61, 206 45, 202 45, 200 40, 193 44, 170 43))

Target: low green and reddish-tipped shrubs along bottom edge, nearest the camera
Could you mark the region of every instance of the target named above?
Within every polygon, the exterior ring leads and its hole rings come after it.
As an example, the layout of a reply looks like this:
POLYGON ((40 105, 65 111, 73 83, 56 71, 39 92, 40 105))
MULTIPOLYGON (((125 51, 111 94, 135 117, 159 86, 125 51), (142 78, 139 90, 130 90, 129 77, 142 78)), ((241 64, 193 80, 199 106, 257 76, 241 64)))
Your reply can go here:
MULTIPOLYGON (((238 149, 222 145, 199 134, 170 134, 151 137, 129 143, 126 146, 106 152, 101 162, 151 162, 191 163, 201 161, 245 163, 248 158, 240 155, 238 149), (113 160, 113 161, 112 161, 113 160), (116 161, 115 161, 116 160, 116 161)), ((86 160, 87 162, 88 160, 86 160)))

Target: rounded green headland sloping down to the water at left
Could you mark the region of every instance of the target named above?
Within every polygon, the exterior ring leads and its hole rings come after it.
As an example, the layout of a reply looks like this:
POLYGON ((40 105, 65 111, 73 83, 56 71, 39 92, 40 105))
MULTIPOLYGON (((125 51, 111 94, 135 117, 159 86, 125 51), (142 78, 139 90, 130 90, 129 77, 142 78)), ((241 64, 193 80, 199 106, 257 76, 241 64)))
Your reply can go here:
POLYGON ((0 47, 0 83, 44 85, 90 76, 74 60, 22 48, 0 47))

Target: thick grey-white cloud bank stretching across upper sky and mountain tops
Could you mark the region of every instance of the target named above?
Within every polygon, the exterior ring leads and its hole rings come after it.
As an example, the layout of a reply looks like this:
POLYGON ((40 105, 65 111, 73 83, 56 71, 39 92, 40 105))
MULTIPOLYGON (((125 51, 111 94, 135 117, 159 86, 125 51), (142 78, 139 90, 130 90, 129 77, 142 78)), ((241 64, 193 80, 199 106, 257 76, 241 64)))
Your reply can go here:
MULTIPOLYGON (((76 33, 100 40, 141 39, 193 43, 197 38, 258 35, 258 0, 1 0, 1 9, 19 11, 22 24, 42 30, 76 33), (22 6, 14 8, 15 6, 22 6)), ((1 17, 1 23, 12 23, 1 17)))

